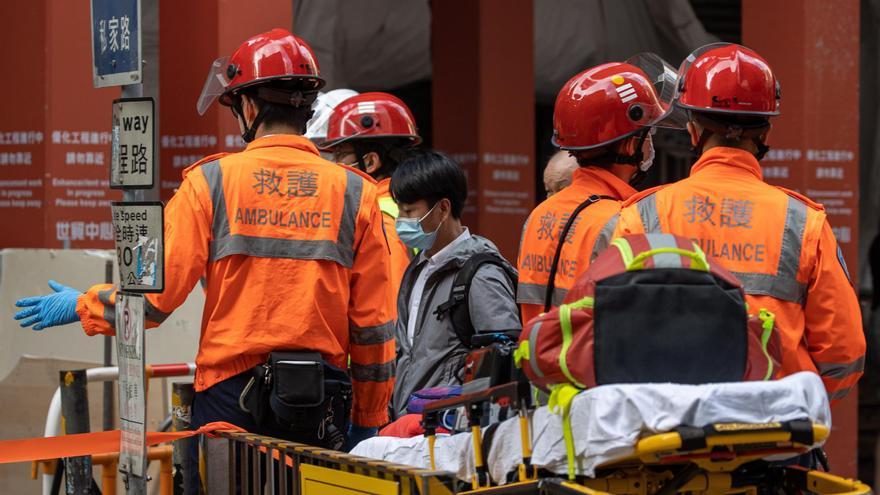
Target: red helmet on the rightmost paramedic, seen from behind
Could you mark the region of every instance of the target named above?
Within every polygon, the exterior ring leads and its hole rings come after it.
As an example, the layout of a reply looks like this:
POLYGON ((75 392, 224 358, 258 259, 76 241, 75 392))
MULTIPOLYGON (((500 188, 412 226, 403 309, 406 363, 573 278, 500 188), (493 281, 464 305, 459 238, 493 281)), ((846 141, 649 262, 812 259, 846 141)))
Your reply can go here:
POLYGON ((732 43, 698 48, 678 71, 676 104, 688 110, 779 115, 779 81, 753 50, 732 43))

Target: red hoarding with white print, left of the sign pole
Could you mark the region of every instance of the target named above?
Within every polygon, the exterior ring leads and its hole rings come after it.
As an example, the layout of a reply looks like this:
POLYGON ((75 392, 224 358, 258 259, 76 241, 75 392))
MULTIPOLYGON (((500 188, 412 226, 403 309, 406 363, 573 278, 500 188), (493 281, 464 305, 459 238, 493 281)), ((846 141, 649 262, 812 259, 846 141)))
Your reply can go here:
POLYGON ((2 2, 0 247, 110 248, 110 111, 92 86, 88 2, 2 2))

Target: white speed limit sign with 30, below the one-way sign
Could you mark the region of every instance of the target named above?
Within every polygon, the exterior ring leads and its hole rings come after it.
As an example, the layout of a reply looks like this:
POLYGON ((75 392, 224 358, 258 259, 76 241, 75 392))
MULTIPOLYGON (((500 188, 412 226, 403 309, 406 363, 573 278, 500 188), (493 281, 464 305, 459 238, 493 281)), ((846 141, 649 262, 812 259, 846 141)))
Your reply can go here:
POLYGON ((114 202, 113 229, 122 290, 165 289, 165 221, 161 202, 114 202))

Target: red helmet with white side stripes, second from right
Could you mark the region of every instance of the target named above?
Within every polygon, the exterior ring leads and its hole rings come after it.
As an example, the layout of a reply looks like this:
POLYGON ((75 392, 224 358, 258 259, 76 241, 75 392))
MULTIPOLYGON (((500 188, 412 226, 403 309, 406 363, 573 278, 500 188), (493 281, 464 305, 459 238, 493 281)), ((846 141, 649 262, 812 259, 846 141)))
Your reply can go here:
POLYGON ((640 68, 619 62, 593 67, 571 78, 556 97, 553 144, 599 148, 656 124, 666 107, 640 68))

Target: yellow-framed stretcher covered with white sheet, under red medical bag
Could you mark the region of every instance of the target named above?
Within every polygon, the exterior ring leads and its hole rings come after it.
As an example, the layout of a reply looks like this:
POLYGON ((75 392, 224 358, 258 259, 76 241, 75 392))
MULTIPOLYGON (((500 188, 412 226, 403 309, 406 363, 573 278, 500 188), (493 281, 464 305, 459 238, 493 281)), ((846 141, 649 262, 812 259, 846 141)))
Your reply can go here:
POLYGON ((438 401, 426 408, 424 437, 371 439, 352 454, 449 471, 457 481, 446 487, 456 493, 871 493, 858 481, 798 465, 821 452, 830 431, 827 397, 813 374, 723 386, 597 387, 570 402, 571 443, 563 419, 547 407, 530 410, 529 396, 527 384, 511 383, 438 401), (487 401, 515 417, 480 427, 487 401), (435 435, 437 419, 452 408, 466 412, 470 431, 435 435))

